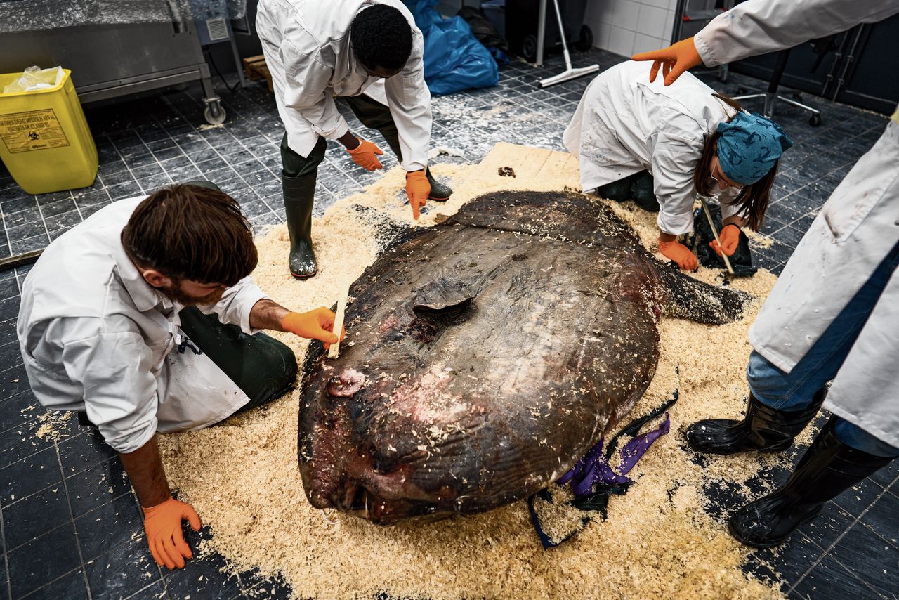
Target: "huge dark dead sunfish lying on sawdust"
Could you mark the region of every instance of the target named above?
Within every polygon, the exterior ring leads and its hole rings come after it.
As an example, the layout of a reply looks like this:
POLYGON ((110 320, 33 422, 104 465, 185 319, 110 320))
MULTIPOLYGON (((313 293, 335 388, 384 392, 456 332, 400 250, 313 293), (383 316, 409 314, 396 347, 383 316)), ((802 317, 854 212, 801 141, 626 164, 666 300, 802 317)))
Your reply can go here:
POLYGON ((378 524, 476 513, 544 488, 653 379, 661 314, 720 324, 747 296, 658 263, 573 193, 491 193, 352 285, 340 358, 307 355, 309 502, 378 524))

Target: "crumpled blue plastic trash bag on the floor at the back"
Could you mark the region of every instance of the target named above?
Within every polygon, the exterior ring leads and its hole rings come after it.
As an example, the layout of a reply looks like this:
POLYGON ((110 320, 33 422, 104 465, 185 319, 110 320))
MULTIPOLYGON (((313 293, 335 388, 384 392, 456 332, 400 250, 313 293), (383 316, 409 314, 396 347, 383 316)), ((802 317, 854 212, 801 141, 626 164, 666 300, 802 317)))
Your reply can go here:
POLYGON ((499 83, 499 67, 489 50, 464 19, 444 19, 434 9, 439 2, 418 0, 413 9, 415 24, 424 35, 424 81, 431 93, 452 94, 499 83))

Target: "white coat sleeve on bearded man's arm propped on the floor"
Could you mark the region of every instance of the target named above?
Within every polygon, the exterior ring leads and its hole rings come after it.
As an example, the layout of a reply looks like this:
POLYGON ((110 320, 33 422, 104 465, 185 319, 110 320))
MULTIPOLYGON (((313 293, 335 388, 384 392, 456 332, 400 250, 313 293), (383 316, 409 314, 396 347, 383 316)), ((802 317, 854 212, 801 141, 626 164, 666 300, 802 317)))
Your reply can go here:
POLYGON ((64 342, 62 361, 85 390, 88 418, 114 450, 134 452, 156 434, 156 365, 137 331, 64 342))

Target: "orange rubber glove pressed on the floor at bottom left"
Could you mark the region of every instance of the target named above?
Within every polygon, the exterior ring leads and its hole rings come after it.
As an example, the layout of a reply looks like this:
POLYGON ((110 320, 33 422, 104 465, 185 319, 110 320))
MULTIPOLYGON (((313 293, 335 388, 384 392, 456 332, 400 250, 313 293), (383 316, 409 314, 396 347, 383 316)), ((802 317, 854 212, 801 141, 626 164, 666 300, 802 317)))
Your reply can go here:
POLYGON ((187 519, 195 532, 200 531, 200 515, 191 505, 169 497, 160 505, 144 508, 144 530, 153 559, 160 567, 181 569, 184 559, 193 558, 191 547, 184 542, 181 522, 187 519))

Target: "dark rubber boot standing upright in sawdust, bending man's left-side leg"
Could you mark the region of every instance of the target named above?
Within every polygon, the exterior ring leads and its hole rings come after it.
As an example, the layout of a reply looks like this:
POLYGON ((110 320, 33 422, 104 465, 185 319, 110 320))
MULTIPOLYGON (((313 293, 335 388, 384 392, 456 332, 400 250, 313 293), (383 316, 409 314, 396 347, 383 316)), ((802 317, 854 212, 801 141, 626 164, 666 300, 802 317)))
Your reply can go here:
POLYGON ((312 277, 318 271, 312 252, 312 204, 316 197, 316 173, 288 177, 281 175, 284 190, 284 212, 290 234, 290 274, 297 278, 312 277))

